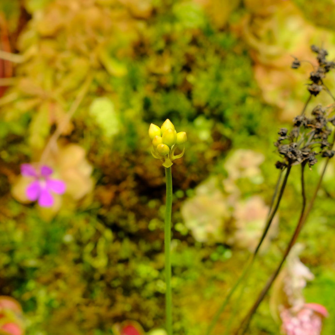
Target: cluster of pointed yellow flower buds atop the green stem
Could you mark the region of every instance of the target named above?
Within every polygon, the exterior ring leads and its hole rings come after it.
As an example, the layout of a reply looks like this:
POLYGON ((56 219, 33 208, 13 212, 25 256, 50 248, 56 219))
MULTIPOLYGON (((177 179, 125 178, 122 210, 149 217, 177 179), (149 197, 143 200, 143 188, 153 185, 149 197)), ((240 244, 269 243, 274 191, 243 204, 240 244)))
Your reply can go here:
POLYGON ((178 145, 184 145, 187 141, 186 133, 177 133, 169 119, 165 120, 161 128, 151 123, 149 136, 152 139, 152 156, 162 159, 165 168, 169 168, 173 164, 173 160, 184 155, 184 146, 179 155, 174 155, 174 152, 178 145))

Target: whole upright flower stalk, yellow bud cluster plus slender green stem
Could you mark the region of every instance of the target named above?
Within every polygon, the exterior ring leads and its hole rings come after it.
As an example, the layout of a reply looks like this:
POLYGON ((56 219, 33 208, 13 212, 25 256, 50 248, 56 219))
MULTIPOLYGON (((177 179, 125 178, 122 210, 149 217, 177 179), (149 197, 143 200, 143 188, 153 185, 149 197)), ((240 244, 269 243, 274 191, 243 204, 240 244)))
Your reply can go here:
POLYGON ((171 166, 175 159, 184 155, 184 143, 187 140, 185 132, 177 133, 173 123, 166 119, 162 127, 151 123, 149 136, 152 140, 151 154, 154 158, 161 159, 166 176, 166 207, 164 220, 164 253, 166 275, 166 328, 168 335, 172 335, 172 292, 171 292, 171 213, 172 213, 172 173, 171 166), (182 152, 175 155, 178 146, 183 146, 182 152))

